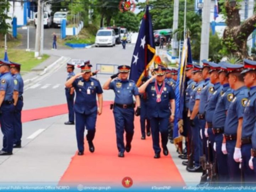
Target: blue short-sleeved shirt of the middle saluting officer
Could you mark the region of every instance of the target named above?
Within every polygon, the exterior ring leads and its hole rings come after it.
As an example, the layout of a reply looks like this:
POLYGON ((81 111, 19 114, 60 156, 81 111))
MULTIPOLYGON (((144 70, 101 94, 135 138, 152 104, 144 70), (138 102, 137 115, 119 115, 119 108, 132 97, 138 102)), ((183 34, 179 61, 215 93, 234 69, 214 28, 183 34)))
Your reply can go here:
POLYGON ((138 87, 132 80, 115 79, 110 83, 110 89, 114 90, 114 102, 122 105, 133 103, 133 95, 139 95, 138 87))

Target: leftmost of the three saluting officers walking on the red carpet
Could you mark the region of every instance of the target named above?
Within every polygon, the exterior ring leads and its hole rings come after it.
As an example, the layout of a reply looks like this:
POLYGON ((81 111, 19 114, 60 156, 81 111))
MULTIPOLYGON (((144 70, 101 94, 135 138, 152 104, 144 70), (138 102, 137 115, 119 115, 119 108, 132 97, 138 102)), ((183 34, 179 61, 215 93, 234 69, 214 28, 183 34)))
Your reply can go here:
POLYGON ((90 64, 80 66, 81 73, 71 77, 65 84, 66 87, 74 87, 76 99, 74 105, 76 140, 78 143, 78 155, 84 154, 84 130, 87 129, 86 139, 89 144, 89 150, 94 152, 92 143, 95 136, 95 127, 97 114, 102 113, 102 88, 97 79, 91 77, 90 64), (80 77, 81 76, 81 77, 80 77), (97 107, 96 95, 98 97, 99 107, 97 107))

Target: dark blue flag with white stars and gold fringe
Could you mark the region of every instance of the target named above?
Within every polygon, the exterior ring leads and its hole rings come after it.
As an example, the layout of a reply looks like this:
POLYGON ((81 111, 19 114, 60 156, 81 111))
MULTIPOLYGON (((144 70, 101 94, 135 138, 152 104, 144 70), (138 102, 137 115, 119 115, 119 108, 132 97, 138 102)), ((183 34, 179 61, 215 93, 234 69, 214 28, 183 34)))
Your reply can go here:
POLYGON ((144 77, 146 69, 153 63, 154 57, 155 43, 153 26, 149 14, 149 7, 147 5, 133 52, 129 79, 135 81, 136 84, 139 85, 144 77))

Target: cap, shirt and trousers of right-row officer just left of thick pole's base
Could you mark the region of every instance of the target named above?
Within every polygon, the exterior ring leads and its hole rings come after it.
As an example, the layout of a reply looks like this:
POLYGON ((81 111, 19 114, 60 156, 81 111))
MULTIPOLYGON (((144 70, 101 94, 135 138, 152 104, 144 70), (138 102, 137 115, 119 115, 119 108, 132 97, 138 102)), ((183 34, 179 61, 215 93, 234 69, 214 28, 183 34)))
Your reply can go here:
MULTIPOLYGON (((194 65, 193 66, 193 71, 192 73, 197 73, 199 71, 202 71, 202 67, 199 65, 194 65)), ((196 100, 200 100, 201 97, 201 91, 203 89, 203 84, 204 81, 197 82, 195 85, 195 88, 190 94, 190 101, 189 101, 189 110, 190 113, 192 113, 194 104, 196 100)), ((200 126, 199 126, 199 119, 198 116, 196 116, 193 119, 193 124, 194 126, 191 126, 191 133, 192 133, 192 142, 193 142, 193 147, 194 147, 194 167, 188 168, 188 171, 196 171, 198 170, 200 166, 200 156, 203 155, 203 150, 202 150, 202 140, 200 138, 200 126)))

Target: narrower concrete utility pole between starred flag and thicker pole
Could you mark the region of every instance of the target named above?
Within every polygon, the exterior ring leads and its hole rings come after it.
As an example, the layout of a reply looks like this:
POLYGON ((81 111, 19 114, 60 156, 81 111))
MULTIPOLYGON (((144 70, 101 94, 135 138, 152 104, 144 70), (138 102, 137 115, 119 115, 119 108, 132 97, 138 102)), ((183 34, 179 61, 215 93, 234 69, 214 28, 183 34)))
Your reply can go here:
MULTIPOLYGON (((172 34, 174 34, 174 31, 178 29, 178 6, 179 6, 179 0, 174 0, 174 20, 173 20, 173 26, 172 26, 172 34)), ((177 57, 177 50, 178 50, 178 38, 177 33, 175 33, 172 36, 172 63, 175 62, 175 57, 177 57)))

